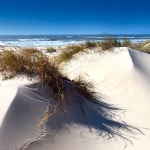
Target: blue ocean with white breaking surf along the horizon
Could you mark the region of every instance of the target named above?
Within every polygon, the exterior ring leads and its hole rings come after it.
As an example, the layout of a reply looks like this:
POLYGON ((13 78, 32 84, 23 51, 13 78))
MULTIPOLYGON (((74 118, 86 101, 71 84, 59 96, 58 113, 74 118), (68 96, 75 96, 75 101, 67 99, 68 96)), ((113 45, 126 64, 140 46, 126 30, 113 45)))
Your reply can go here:
MULTIPOLYGON (((66 46, 68 44, 80 44, 86 41, 102 41, 106 36, 108 35, 0 35, 0 46, 66 46)), ((127 38, 132 42, 150 40, 150 34, 117 34, 109 36, 116 37, 118 40, 127 38)))

